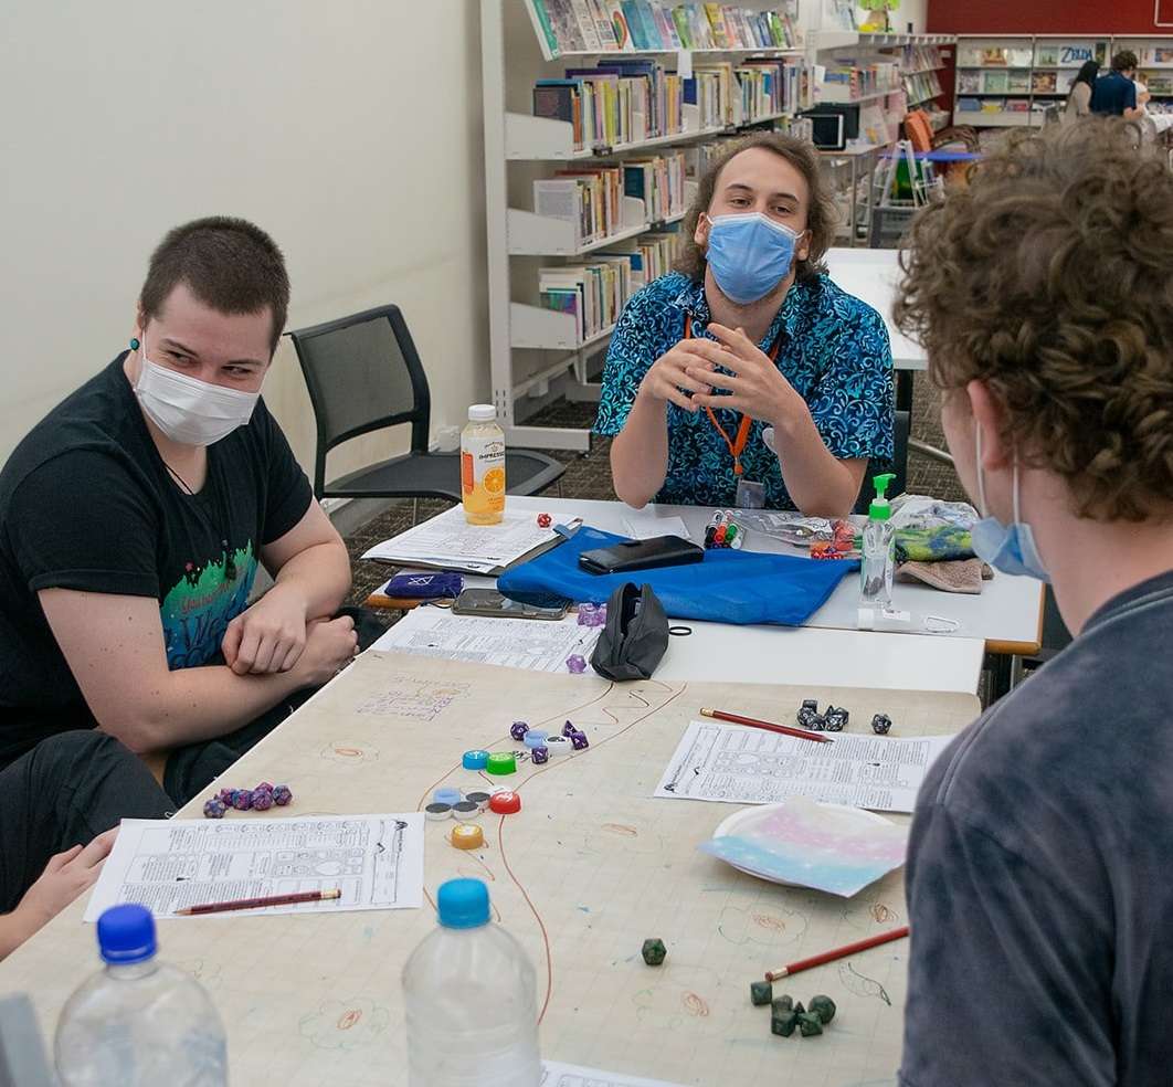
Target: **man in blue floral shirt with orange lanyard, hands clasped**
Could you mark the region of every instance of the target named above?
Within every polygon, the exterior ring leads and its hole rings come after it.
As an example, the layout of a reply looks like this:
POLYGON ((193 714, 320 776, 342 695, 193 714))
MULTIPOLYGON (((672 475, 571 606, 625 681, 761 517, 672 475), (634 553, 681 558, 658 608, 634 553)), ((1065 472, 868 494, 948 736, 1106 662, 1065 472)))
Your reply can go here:
POLYGON ((676 271, 611 337, 595 433, 615 436, 624 502, 838 517, 868 458, 891 458, 888 333, 826 274, 834 216, 791 136, 751 136, 701 178, 676 271))

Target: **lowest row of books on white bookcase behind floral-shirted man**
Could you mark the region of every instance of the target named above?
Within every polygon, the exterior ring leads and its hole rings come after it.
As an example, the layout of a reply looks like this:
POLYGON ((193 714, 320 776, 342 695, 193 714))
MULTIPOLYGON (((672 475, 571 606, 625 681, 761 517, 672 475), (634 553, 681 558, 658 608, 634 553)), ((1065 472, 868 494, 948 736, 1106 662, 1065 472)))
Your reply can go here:
POLYGON ((588 261, 538 269, 540 305, 572 317, 579 344, 601 335, 636 291, 671 269, 682 237, 670 227, 617 243, 588 261))

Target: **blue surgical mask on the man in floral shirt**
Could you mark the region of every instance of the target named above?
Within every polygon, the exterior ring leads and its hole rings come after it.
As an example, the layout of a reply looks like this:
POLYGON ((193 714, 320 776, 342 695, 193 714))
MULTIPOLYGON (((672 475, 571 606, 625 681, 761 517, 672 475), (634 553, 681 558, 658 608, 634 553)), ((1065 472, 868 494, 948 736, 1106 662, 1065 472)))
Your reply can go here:
POLYGON ((721 293, 745 306, 765 298, 791 272, 801 235, 760 211, 708 219, 705 258, 721 293))

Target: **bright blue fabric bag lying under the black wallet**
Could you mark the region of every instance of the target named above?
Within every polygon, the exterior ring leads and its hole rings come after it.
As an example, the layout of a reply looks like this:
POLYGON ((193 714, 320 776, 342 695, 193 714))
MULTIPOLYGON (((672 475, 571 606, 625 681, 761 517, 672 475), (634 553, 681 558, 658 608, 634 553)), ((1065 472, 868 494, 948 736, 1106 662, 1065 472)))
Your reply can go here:
MULTIPOLYGON (((583 525, 565 543, 502 573, 497 591, 540 607, 560 607, 568 600, 603 604, 631 575, 588 573, 579 568, 578 556, 625 538, 583 525)), ((673 619, 801 626, 842 577, 859 569, 856 559, 816 562, 721 549, 706 551, 701 563, 640 570, 638 576, 673 619)))

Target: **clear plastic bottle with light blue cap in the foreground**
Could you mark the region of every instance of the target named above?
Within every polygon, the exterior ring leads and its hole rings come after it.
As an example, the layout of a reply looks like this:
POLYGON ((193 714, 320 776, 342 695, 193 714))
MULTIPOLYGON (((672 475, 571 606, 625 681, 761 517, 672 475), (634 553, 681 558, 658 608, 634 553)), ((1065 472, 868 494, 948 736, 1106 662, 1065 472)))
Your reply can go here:
POLYGON ((537 1087, 534 965, 491 924, 489 889, 449 879, 440 926, 404 967, 408 1087, 537 1087))

